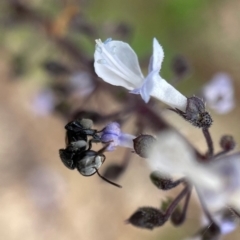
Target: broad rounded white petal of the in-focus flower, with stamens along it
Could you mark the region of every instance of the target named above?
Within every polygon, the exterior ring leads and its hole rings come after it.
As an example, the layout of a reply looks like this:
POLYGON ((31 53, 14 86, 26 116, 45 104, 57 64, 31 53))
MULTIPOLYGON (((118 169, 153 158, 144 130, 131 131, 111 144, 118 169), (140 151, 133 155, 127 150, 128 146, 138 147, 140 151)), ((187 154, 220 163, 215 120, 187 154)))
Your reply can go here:
POLYGON ((133 49, 121 41, 96 40, 95 72, 104 81, 129 90, 141 86, 143 75, 133 49))

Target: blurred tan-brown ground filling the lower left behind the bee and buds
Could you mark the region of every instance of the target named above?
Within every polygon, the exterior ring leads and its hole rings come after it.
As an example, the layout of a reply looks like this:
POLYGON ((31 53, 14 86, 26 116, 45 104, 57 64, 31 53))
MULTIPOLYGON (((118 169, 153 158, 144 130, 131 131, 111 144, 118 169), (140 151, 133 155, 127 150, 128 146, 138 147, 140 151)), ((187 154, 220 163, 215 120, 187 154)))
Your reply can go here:
MULTIPOLYGON (((39 118, 34 115, 30 108, 33 86, 9 81, 9 73, 8 66, 2 61, 1 239, 122 240, 156 239, 157 236, 182 239, 197 230, 200 215, 194 201, 195 207, 189 211, 181 229, 166 225, 151 232, 126 225, 124 220, 138 207, 158 207, 164 197, 150 183, 149 169, 143 159, 132 158, 126 173, 118 181, 123 189, 108 185, 97 176, 84 178, 77 171, 68 170, 58 157, 58 149, 64 146, 65 123, 56 116, 39 118)), ((169 113, 167 118, 204 150, 205 142, 198 129, 189 128, 173 116, 169 113)), ((231 116, 216 118, 211 131, 214 139, 219 139, 223 129, 238 139, 239 129, 232 130, 237 122, 237 118, 231 116)), ((117 152, 119 154, 108 154, 103 168, 121 159, 121 150, 117 152)))

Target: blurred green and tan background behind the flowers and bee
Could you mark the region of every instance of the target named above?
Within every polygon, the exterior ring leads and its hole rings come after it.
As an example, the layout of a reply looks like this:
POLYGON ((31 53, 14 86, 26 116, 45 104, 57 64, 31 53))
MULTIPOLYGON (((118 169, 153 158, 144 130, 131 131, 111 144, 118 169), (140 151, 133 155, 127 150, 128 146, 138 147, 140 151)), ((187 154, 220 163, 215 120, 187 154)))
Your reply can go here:
MULTIPOLYGON (((239 12, 238 0, 1 1, 0 238, 179 240, 194 234, 201 225, 196 198, 179 228, 168 223, 148 231, 124 222, 140 206, 159 207, 166 196, 151 184, 144 159, 121 148, 106 154, 100 172, 127 162, 115 180, 123 186, 118 189, 97 175, 68 170, 58 150, 65 147, 64 126, 77 117, 93 119, 100 130, 125 114, 126 132, 156 133, 151 116, 146 126, 136 124, 135 113, 124 108, 140 98, 94 73, 95 39, 109 37, 128 42, 145 73, 156 37, 165 51, 161 76, 184 95, 203 96, 212 106, 210 132, 217 151, 223 134, 239 142, 239 12)), ((206 151, 199 129, 157 101, 150 104, 206 151)), ((238 234, 225 239, 238 239, 238 234)))

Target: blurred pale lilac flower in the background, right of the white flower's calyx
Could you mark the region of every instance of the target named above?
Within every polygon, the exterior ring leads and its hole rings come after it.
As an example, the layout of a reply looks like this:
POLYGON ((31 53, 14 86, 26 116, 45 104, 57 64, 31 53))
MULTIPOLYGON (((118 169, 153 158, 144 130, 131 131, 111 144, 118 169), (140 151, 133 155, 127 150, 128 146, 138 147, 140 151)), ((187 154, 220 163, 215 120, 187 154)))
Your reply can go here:
POLYGON ((203 95, 209 107, 219 114, 226 114, 235 106, 232 79, 226 73, 214 75, 204 86, 203 95))

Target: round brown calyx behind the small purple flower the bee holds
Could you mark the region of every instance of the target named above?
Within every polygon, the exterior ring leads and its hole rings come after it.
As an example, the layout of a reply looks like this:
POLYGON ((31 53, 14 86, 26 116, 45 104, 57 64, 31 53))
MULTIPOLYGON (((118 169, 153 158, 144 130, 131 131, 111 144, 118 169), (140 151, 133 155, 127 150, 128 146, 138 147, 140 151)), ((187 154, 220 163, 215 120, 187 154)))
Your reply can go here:
POLYGON ((156 143, 156 138, 147 134, 141 134, 133 139, 134 150, 142 158, 149 157, 149 152, 154 143, 156 143))

